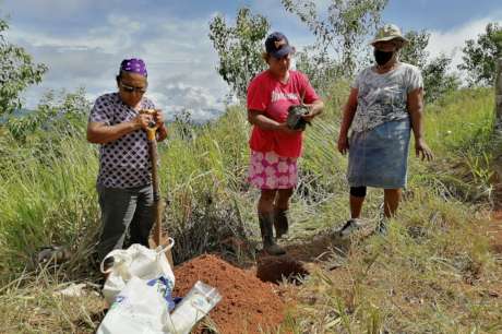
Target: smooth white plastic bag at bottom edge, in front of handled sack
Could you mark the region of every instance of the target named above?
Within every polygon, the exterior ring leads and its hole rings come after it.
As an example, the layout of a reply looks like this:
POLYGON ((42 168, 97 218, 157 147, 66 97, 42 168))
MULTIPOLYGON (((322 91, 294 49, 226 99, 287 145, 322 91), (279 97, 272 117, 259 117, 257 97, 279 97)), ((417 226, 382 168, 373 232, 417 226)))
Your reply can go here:
POLYGON ((166 334, 167 303, 155 286, 132 276, 117 295, 96 334, 166 334))

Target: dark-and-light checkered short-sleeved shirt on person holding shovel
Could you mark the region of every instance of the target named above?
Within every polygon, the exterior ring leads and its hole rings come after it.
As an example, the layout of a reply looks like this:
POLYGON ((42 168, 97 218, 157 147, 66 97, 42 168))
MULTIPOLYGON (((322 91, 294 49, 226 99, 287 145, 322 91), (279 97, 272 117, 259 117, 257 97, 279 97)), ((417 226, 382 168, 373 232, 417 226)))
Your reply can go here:
MULTIPOLYGON (((141 108, 155 108, 143 97, 141 108)), ((130 121, 138 111, 120 99, 118 93, 99 96, 89 115, 89 122, 115 126, 130 121)), ((144 130, 128 133, 99 147, 99 175, 97 183, 109 188, 133 188, 152 182, 148 142, 144 130)))

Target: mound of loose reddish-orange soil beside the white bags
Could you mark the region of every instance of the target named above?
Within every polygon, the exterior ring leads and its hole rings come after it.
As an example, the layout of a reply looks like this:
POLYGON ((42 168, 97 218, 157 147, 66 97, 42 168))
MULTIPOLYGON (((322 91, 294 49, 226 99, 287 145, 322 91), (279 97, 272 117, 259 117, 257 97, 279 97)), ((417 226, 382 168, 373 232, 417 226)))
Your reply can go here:
POLYGON ((284 303, 272 286, 214 255, 201 255, 175 269, 175 296, 184 296, 202 281, 216 287, 222 301, 210 312, 223 334, 262 333, 284 319, 284 303))

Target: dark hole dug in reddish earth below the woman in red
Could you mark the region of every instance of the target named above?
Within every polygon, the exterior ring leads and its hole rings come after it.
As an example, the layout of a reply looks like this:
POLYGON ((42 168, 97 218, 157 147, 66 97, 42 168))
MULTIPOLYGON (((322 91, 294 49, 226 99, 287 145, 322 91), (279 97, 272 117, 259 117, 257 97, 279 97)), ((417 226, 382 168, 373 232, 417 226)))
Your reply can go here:
POLYGON ((301 262, 289 255, 264 255, 258 259, 256 277, 263 282, 280 283, 283 277, 298 283, 298 278, 307 276, 309 272, 301 262))

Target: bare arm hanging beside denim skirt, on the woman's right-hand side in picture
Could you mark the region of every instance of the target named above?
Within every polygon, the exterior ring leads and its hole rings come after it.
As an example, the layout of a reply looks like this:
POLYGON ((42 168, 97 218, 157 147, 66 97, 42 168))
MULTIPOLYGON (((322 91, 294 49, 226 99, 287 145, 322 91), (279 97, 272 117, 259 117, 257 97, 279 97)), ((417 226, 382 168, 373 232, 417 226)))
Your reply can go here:
POLYGON ((411 129, 415 135, 415 154, 417 157, 432 160, 432 151, 423 139, 423 90, 417 88, 408 93, 408 112, 411 117, 411 129))

